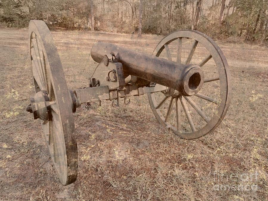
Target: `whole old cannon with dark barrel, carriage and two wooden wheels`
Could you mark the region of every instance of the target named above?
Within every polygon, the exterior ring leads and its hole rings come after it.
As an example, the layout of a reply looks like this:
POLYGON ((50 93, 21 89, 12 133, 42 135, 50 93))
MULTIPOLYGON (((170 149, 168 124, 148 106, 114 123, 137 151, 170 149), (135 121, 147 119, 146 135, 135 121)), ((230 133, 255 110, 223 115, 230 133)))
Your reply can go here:
POLYGON ((64 186, 77 178, 73 113, 82 104, 88 107, 107 100, 118 107, 130 104, 131 96, 147 94, 161 125, 181 138, 195 139, 219 126, 230 103, 227 60, 219 46, 198 31, 172 32, 152 54, 96 42, 91 57, 99 64, 88 86, 74 90, 67 88, 57 48, 43 21, 29 23, 29 50, 35 95, 26 110, 40 119, 57 177, 64 186), (176 47, 175 57, 171 43, 176 47), (185 51, 184 45, 190 50, 185 51), (193 60, 197 45, 201 56, 193 60), (214 65, 208 65, 212 60, 214 65))

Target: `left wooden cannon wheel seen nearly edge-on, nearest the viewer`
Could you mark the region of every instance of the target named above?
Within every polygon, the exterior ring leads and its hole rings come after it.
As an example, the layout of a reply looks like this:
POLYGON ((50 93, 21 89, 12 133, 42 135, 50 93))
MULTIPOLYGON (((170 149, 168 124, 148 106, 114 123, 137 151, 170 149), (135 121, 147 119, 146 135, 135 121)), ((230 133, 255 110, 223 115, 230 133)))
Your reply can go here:
POLYGON ((49 105, 49 120, 41 120, 44 137, 57 176, 66 186, 77 177, 74 117, 60 57, 52 35, 43 21, 31 20, 29 23, 29 50, 35 99, 46 97, 46 102, 36 104, 49 105))

